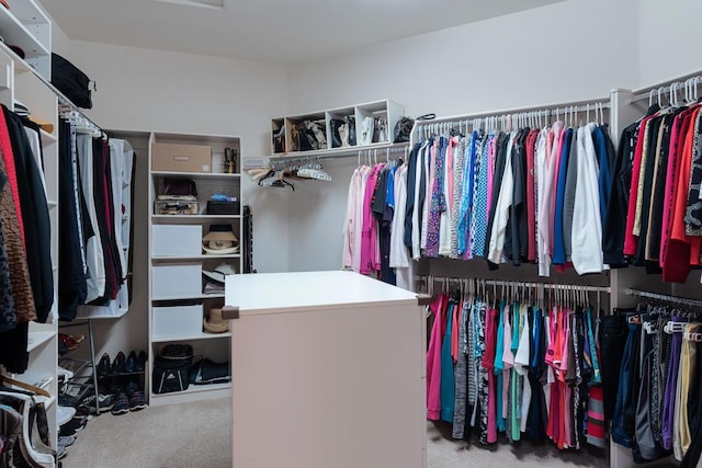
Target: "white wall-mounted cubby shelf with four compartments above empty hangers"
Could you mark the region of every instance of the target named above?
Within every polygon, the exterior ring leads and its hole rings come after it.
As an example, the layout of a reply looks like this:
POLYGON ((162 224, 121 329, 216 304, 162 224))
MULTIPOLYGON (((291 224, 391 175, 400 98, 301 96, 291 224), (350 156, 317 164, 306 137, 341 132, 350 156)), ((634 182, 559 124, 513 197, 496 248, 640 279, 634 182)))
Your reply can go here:
POLYGON ((271 153, 369 148, 393 142, 405 109, 389 100, 271 119, 271 153))

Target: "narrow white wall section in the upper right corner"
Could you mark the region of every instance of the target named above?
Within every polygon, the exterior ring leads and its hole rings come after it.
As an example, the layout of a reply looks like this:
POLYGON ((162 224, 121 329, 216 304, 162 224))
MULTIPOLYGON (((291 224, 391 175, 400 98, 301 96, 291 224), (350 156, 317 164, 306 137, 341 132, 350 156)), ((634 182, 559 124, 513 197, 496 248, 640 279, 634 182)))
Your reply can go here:
POLYGON ((702 72, 702 2, 639 0, 639 82, 655 85, 688 73, 702 72))

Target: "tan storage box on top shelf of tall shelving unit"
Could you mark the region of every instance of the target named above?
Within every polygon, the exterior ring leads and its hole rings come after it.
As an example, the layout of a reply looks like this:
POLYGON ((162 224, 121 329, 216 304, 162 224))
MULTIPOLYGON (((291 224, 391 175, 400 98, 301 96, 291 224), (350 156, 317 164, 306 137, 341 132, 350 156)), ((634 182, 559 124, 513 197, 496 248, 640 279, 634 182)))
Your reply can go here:
POLYGON ((173 172, 212 172, 212 147, 155 142, 151 170, 173 172))

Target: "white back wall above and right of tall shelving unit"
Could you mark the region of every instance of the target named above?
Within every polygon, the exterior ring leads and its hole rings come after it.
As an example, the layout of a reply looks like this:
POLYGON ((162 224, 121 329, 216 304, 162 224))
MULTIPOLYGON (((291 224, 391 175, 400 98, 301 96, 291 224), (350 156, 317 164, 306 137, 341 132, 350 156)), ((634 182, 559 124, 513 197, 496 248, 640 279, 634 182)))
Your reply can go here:
MULTIPOLYGON (((79 41, 70 53, 98 83, 86 114, 103 128, 235 135, 244 158, 260 157, 270 152, 270 118, 287 107, 282 66, 79 41)), ((287 270, 285 194, 246 176, 242 192, 256 219, 254 266, 287 270)))

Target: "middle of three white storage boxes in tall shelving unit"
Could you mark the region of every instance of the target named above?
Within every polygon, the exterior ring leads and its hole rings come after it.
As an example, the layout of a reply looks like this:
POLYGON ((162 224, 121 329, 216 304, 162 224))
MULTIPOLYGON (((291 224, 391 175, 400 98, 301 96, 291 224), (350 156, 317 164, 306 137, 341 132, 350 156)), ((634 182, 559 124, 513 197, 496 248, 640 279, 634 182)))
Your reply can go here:
POLYGON ((151 267, 151 299, 179 299, 201 295, 201 263, 151 267))

